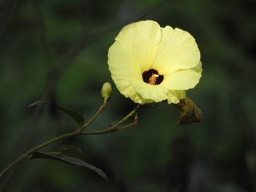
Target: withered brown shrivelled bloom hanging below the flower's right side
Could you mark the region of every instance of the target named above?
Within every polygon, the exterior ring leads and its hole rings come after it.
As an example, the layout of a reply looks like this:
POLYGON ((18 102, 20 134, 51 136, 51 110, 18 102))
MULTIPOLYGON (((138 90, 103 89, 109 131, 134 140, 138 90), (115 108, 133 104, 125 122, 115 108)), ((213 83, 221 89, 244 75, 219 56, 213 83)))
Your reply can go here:
POLYGON ((185 125, 194 122, 200 122, 202 120, 201 110, 191 99, 181 99, 181 101, 178 104, 175 104, 175 106, 180 111, 177 124, 185 125))

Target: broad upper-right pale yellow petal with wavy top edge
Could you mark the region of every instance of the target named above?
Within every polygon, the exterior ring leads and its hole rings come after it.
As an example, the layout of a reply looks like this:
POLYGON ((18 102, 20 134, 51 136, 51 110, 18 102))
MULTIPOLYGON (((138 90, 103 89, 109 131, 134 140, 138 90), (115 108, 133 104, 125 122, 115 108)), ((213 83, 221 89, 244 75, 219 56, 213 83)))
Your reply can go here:
POLYGON ((162 29, 162 39, 157 57, 151 68, 168 74, 178 69, 190 69, 200 61, 200 51, 194 37, 187 31, 166 26, 162 29))

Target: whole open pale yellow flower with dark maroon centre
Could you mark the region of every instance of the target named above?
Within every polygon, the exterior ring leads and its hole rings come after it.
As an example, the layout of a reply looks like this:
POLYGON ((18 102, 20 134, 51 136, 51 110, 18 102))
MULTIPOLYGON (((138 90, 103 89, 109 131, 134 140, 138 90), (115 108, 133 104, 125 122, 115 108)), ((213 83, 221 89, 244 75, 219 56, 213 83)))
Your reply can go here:
POLYGON ((200 80, 200 51, 187 31, 144 20, 124 26, 115 40, 108 50, 111 77, 135 103, 176 104, 200 80))

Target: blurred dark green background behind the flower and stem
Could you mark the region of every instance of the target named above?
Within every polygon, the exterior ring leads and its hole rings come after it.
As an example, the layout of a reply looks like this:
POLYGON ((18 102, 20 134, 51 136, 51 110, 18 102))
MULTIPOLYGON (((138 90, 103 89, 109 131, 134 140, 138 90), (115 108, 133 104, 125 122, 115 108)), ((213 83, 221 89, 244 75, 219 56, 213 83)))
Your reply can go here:
POLYGON ((0 179, 0 191, 256 191, 256 2, 254 0, 1 0, 0 169, 47 139, 76 128, 44 99, 87 119, 101 104, 103 82, 113 96, 90 130, 124 117, 135 104, 118 93, 108 47, 137 20, 189 31, 200 47, 203 77, 187 95, 203 121, 177 126, 178 111, 159 104, 140 111, 135 128, 72 137, 44 148, 67 152, 108 174, 56 161, 26 161, 0 179))

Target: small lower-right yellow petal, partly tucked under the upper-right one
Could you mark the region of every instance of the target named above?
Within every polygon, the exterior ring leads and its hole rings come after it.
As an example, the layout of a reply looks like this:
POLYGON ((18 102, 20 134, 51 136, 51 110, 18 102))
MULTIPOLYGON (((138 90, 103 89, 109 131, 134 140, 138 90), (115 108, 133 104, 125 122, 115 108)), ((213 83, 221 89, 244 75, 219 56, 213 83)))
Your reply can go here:
POLYGON ((165 74, 165 79, 161 85, 169 90, 187 90, 194 88, 200 80, 202 72, 202 63, 199 62, 197 66, 192 69, 185 69, 165 74))

